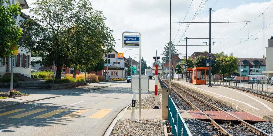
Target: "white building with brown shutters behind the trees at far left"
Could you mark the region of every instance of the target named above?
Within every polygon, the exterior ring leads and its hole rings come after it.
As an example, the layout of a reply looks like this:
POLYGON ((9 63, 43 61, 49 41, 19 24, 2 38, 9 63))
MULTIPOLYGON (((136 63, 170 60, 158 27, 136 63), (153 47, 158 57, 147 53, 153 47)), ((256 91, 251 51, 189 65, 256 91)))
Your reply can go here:
MULTIPOLYGON (((19 2, 19 5, 22 9, 28 9, 29 6, 25 0, 9 0, 8 5, 15 4, 19 2)), ((8 6, 4 3, 5 6, 8 6)), ((17 21, 16 24, 20 26, 20 21, 24 21, 25 19, 29 19, 24 13, 21 12, 21 15, 14 16, 14 19, 17 21)), ((22 37, 24 38, 24 37, 22 37)), ((27 53, 22 49, 18 48, 18 55, 13 56, 13 73, 19 73, 21 75, 30 77, 30 60, 31 53, 27 53)), ((2 62, 0 62, 0 76, 5 75, 5 73, 10 73, 11 71, 11 57, 0 58, 2 62)))

